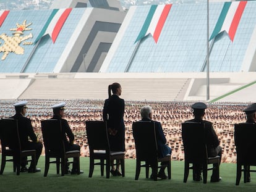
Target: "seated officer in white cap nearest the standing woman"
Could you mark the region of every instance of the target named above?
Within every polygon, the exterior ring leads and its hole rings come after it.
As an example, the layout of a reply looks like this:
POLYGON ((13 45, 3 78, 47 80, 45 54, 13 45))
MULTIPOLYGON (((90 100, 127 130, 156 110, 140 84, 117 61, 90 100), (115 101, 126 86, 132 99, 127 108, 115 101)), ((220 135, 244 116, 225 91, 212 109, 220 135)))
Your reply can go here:
MULTIPOLYGON (((61 128, 62 128, 62 137, 65 145, 65 150, 66 151, 73 151, 77 150, 80 151, 80 146, 77 144, 74 144, 74 134, 72 133, 72 130, 69 127, 69 123, 67 123, 66 119, 62 119, 64 116, 64 110, 65 110, 65 102, 58 103, 54 106, 53 108, 53 118, 51 119, 58 119, 61 121, 61 128), (69 141, 67 140, 67 137, 69 138, 69 141)), ((66 174, 69 173, 69 165, 67 164, 66 167, 66 174)), ((71 174, 77 174, 79 172, 78 167, 77 167, 77 162, 74 162, 71 174)), ((80 170, 80 173, 83 173, 82 170, 80 170)))

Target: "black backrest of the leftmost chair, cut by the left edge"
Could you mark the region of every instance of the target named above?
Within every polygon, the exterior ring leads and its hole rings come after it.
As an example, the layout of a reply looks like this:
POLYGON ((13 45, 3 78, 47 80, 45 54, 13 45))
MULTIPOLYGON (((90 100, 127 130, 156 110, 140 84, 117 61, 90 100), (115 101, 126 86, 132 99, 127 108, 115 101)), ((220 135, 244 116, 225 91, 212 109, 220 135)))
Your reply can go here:
POLYGON ((20 154, 20 137, 17 120, 0 120, 0 139, 2 144, 2 150, 8 147, 20 154))

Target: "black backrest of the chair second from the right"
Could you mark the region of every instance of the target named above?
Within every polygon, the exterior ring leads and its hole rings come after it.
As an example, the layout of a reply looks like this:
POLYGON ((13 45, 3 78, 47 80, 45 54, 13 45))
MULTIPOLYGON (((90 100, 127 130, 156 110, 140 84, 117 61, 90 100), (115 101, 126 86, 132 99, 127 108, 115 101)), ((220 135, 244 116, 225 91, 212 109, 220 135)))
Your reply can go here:
POLYGON ((200 163, 207 161, 204 123, 182 123, 182 140, 185 161, 200 163))

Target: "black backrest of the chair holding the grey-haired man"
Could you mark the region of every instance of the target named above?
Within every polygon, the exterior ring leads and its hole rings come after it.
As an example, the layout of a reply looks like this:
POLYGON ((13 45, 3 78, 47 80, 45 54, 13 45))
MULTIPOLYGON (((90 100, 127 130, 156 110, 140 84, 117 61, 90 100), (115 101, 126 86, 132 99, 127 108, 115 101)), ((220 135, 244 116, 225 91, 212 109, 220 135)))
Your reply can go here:
POLYGON ((158 147, 156 142, 155 122, 138 121, 132 123, 136 157, 141 161, 156 161, 158 147))

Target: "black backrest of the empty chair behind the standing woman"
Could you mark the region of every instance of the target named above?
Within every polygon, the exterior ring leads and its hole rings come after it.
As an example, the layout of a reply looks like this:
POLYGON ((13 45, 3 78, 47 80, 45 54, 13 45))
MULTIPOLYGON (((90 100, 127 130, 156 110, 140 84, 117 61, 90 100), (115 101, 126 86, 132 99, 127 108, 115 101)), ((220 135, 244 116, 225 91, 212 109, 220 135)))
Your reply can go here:
POLYGON ((95 120, 87 121, 85 124, 90 155, 93 154, 94 150, 105 150, 106 153, 109 153, 110 148, 106 122, 95 120))

